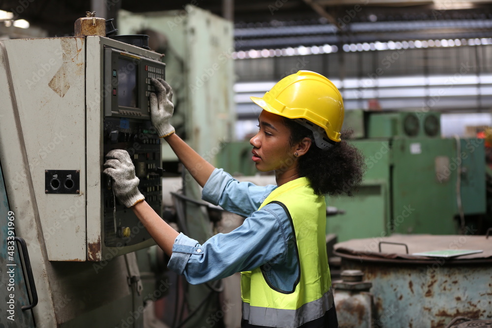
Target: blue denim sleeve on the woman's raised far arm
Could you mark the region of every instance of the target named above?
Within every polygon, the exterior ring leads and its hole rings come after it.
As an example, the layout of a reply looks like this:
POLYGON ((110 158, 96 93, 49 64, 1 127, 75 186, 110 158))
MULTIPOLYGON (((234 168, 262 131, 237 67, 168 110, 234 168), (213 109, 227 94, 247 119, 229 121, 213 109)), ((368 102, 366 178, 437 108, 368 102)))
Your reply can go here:
POLYGON ((203 186, 202 199, 230 212, 249 216, 258 209, 276 185, 257 186, 239 182, 222 169, 215 169, 203 186))

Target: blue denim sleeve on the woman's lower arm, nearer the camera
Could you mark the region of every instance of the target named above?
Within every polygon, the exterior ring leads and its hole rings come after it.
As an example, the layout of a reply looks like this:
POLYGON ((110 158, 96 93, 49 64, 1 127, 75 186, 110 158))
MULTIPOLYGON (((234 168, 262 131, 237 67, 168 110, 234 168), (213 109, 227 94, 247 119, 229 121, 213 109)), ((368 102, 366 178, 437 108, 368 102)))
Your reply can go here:
POLYGON ((284 264, 290 238, 292 229, 285 212, 277 204, 270 204, 246 218, 237 229, 217 234, 203 245, 180 234, 168 268, 184 274, 189 283, 199 284, 265 263, 284 264))

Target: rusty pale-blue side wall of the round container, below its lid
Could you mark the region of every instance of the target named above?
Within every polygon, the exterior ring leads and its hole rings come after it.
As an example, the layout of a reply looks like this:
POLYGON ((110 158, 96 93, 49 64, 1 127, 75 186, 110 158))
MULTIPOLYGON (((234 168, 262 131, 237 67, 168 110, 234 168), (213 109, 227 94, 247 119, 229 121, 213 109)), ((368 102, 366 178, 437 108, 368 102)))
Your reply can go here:
POLYGON ((446 267, 389 265, 342 259, 373 283, 373 327, 442 328, 457 316, 492 318, 492 276, 488 265, 446 267), (407 323, 407 324, 403 324, 407 323))

